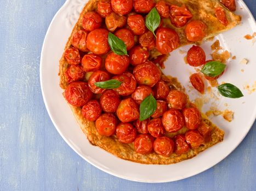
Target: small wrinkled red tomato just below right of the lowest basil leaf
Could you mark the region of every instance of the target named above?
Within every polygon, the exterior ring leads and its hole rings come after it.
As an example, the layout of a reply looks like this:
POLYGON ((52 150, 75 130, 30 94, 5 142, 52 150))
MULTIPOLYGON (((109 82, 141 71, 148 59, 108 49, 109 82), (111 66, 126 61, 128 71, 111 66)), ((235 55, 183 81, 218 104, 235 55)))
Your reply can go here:
POLYGON ((162 120, 160 117, 150 120, 149 124, 147 124, 147 130, 149 130, 149 133, 154 138, 159 138, 166 132, 163 128, 162 120))

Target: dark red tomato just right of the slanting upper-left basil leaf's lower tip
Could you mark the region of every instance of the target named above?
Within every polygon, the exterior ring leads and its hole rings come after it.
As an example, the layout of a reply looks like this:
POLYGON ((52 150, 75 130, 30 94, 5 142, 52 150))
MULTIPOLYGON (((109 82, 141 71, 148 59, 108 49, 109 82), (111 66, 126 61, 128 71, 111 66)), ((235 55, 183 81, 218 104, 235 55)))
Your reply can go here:
POLYGON ((138 65, 147 61, 149 58, 149 51, 141 46, 134 46, 129 51, 130 63, 132 65, 138 65))

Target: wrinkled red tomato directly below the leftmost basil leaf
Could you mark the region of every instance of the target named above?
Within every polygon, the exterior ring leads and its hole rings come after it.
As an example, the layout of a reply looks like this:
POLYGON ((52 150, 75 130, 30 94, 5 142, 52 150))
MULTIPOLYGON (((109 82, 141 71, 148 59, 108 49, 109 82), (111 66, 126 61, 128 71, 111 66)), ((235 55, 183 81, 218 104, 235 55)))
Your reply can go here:
POLYGON ((100 97, 100 105, 103 111, 107 113, 114 113, 118 105, 120 104, 121 99, 118 94, 112 89, 106 90, 100 97))

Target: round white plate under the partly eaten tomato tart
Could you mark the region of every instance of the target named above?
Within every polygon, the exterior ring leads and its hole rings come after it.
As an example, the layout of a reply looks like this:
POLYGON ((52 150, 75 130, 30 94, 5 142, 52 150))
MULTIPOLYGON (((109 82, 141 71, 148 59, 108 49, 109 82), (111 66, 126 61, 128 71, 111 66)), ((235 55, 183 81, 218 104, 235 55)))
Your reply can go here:
MULTIPOLYGON (((252 40, 243 38, 246 34, 256 32, 255 20, 246 5, 237 1, 237 14, 242 15, 242 24, 234 29, 218 35, 221 46, 236 56, 235 60, 228 63, 227 71, 219 81, 231 82, 244 93, 240 99, 229 99, 221 97, 216 102, 221 109, 224 103, 229 109, 235 111, 232 122, 226 122, 222 117, 213 118, 213 122, 225 130, 224 141, 208 150, 198 154, 190 160, 172 165, 143 165, 128 162, 113 156, 112 154, 89 144, 86 136, 78 127, 75 118, 62 97, 62 89, 59 87, 59 59, 64 51, 67 39, 75 25, 79 13, 87 1, 67 1, 54 16, 44 39, 41 55, 40 79, 43 99, 54 126, 79 156, 87 160, 97 168, 121 178, 140 182, 170 182, 196 175, 211 168, 229 155, 251 128, 256 116, 256 93, 248 94, 243 90, 243 85, 253 85, 256 81, 256 44, 252 40), (242 58, 247 58, 247 65, 241 64, 242 58), (244 69, 244 72, 241 72, 244 69)), ((204 43, 203 49, 209 57, 212 42, 204 43)), ((190 46, 182 47, 182 50, 190 46)), ((189 74, 195 70, 184 64, 184 55, 177 51, 172 52, 166 62, 164 73, 177 76, 179 81, 187 87, 189 85, 189 74)), ((198 96, 195 91, 189 92, 190 98, 198 96)), ((203 109, 206 110, 209 105, 203 109)))

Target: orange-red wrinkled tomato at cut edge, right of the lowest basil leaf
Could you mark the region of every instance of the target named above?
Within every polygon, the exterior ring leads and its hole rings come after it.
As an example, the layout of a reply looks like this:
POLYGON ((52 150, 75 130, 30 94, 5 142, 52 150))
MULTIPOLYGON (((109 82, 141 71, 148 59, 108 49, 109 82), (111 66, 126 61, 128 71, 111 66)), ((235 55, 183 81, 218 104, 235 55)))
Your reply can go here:
POLYGON ((167 103, 169 108, 181 110, 187 104, 187 95, 184 92, 173 89, 168 93, 167 103))

